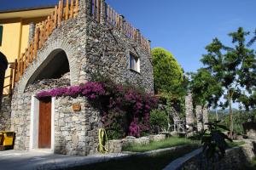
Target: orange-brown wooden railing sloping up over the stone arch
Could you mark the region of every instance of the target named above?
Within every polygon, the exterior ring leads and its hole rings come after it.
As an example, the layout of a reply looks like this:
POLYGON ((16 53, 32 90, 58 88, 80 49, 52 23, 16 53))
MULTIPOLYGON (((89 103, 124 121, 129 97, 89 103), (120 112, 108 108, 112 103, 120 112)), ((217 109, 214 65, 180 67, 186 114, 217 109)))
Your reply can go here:
POLYGON ((25 53, 21 54, 17 59, 17 69, 15 74, 15 82, 18 82, 23 76, 28 65, 34 59, 37 59, 38 50, 44 45, 55 28, 61 26, 62 20, 69 20, 75 18, 79 14, 79 0, 63 0, 59 1, 59 5, 55 6, 55 10, 49 14, 46 20, 36 25, 34 37, 29 42, 25 53), (65 6, 65 7, 64 7, 65 6))

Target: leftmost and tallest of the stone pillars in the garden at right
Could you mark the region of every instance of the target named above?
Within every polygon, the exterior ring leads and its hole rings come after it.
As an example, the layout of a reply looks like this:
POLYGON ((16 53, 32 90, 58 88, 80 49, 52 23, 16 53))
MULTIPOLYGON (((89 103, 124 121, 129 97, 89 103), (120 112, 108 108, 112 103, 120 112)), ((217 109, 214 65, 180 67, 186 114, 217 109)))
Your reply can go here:
POLYGON ((186 112, 186 126, 189 127, 189 130, 193 130, 193 124, 195 122, 195 116, 193 113, 193 100, 192 94, 189 93, 185 97, 185 112, 186 112))

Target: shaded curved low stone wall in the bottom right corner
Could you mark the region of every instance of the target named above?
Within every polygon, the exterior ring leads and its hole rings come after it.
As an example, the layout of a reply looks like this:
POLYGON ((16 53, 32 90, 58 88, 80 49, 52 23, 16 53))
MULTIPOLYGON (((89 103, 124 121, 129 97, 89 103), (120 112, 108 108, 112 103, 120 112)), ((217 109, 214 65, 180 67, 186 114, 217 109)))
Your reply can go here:
POLYGON ((247 144, 226 151, 226 156, 221 160, 207 161, 200 151, 195 150, 186 156, 172 161, 165 170, 227 170, 243 169, 255 156, 256 143, 247 140, 247 144))

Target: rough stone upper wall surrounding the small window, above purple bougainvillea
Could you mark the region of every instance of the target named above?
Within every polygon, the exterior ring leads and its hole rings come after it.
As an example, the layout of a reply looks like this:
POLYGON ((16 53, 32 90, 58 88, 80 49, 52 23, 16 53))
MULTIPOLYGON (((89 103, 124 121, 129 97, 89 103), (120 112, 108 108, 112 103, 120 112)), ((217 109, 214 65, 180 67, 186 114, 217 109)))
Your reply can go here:
POLYGON ((90 14, 86 17, 86 23, 84 71, 88 78, 93 79, 95 76, 91 73, 99 73, 114 82, 131 83, 153 94, 151 54, 108 23, 97 23, 90 14), (140 72, 130 70, 130 53, 140 58, 140 72))

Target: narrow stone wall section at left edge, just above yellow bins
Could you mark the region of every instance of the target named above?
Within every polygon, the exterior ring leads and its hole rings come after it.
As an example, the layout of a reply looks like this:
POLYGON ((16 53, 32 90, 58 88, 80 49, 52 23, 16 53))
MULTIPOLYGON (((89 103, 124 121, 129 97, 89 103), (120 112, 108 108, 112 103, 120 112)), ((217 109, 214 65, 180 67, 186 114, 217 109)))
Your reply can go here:
POLYGON ((0 131, 9 131, 11 126, 11 98, 4 96, 0 109, 0 131))

